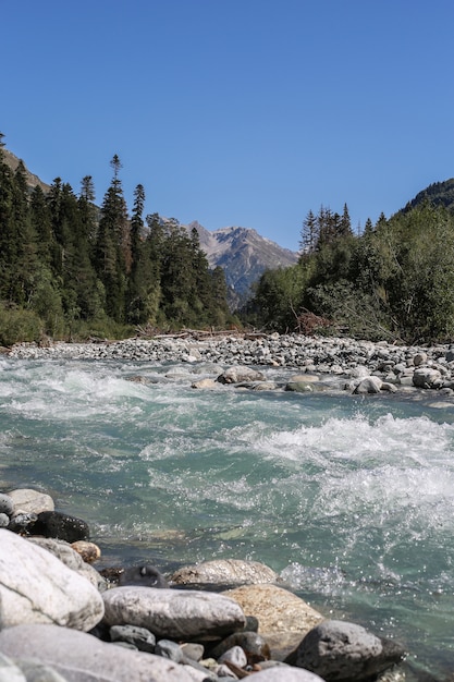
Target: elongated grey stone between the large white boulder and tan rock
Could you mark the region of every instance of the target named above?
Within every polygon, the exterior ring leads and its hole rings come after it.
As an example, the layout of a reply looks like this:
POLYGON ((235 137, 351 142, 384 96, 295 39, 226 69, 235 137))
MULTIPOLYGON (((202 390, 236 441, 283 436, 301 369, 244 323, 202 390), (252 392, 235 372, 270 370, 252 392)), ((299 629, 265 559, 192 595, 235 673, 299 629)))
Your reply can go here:
POLYGON ((244 628, 241 607, 223 595, 194 589, 113 587, 102 594, 108 625, 138 625, 157 637, 219 637, 244 628))

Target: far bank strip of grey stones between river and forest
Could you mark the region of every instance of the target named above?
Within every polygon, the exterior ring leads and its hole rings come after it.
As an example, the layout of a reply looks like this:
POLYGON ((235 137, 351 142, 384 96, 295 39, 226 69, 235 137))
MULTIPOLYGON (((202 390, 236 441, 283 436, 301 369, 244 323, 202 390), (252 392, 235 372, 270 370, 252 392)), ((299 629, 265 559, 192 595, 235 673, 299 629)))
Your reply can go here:
MULTIPOLYGON (((433 389, 443 395, 454 394, 454 346, 441 344, 404 346, 385 341, 372 343, 300 334, 214 336, 187 332, 180 337, 161 336, 151 340, 54 343, 46 348, 21 343, 9 350, 8 355, 30 360, 124 360, 259 366, 260 375, 246 374, 237 381, 225 381, 243 385, 266 380, 267 368, 285 368, 298 377, 290 377, 289 386, 285 386, 289 390, 322 390, 327 388, 326 381, 323 387, 317 380, 330 379, 331 388, 355 393, 433 389), (314 378, 308 378, 310 376, 314 378)), ((209 385, 195 388, 209 388, 209 385)))

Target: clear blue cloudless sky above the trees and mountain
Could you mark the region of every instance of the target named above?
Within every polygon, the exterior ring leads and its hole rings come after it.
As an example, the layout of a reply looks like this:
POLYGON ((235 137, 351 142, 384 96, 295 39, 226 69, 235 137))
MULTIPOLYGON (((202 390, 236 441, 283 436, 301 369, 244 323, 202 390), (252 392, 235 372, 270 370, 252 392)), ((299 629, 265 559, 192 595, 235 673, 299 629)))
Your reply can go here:
POLYGON ((297 249, 454 176, 453 0, 0 0, 0 131, 100 204, 297 249))

